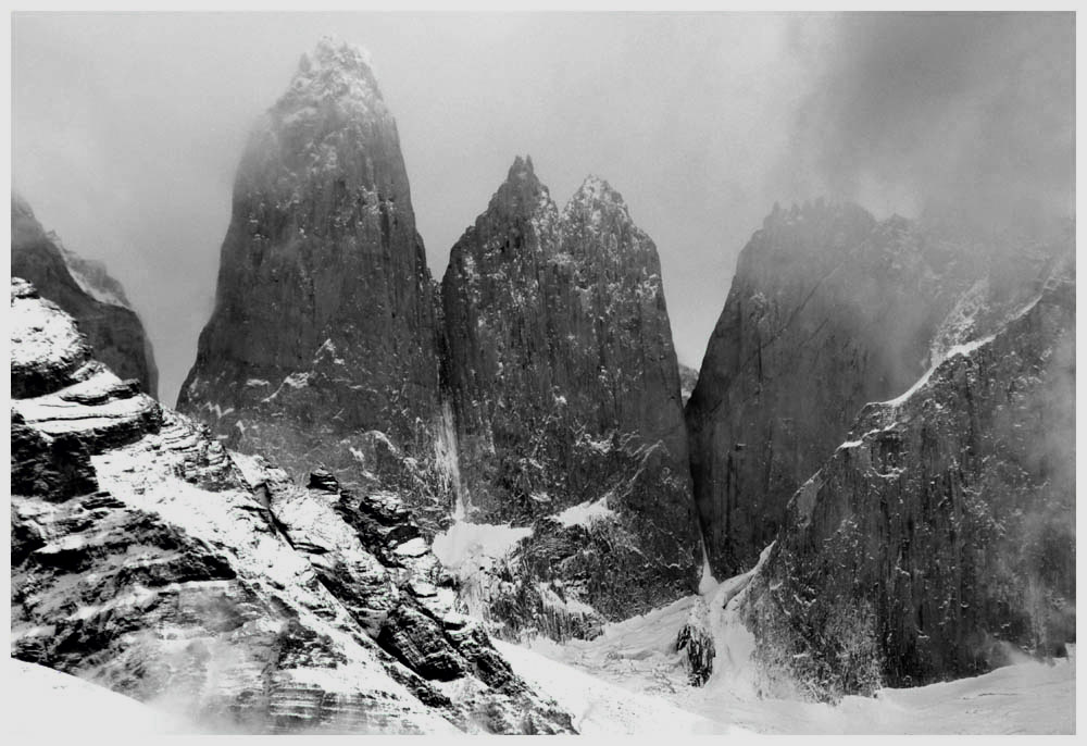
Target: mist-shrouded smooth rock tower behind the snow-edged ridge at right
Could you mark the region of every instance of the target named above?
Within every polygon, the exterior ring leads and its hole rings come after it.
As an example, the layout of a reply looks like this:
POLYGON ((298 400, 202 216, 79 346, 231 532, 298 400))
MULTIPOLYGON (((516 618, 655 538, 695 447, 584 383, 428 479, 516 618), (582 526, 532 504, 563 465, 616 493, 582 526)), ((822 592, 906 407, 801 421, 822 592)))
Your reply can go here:
POLYGON ((995 328, 1053 254, 979 251, 850 204, 775 207, 740 254, 686 408, 714 573, 751 568, 860 409, 995 328))

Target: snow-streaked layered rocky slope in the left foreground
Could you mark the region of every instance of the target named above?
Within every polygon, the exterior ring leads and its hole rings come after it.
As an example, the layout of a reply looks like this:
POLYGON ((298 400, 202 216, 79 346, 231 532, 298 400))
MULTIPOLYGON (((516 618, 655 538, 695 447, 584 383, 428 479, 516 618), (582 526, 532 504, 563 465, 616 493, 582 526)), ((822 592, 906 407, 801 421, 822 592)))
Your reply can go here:
POLYGON ((12 285, 12 655, 212 732, 562 733, 392 493, 295 486, 12 285))

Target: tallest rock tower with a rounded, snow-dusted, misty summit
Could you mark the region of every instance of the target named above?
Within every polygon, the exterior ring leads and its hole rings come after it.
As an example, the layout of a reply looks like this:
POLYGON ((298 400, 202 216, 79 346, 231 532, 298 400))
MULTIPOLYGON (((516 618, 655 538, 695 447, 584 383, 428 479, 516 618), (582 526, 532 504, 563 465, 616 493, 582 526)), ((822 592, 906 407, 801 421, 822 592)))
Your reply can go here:
POLYGON ((250 136, 178 409, 297 480, 373 470, 373 431, 433 450, 433 293, 396 122, 364 54, 322 41, 250 136))

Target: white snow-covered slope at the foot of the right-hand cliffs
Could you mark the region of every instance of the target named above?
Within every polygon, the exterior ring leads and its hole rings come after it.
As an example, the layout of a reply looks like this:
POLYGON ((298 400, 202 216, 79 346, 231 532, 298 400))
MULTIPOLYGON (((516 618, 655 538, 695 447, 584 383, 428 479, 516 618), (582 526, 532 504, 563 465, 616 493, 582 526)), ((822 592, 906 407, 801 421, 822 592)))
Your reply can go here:
MULTIPOLYGON (((765 556, 765 554, 764 554, 765 556)), ((1022 662, 982 676, 827 705, 761 697, 738 613, 749 574, 617 624, 594 641, 497 643, 514 671, 592 734, 1060 734, 1075 732, 1075 662, 1022 662), (726 608, 721 609, 725 599, 726 608), (700 602, 714 611, 714 673, 687 683, 675 639, 700 602)))

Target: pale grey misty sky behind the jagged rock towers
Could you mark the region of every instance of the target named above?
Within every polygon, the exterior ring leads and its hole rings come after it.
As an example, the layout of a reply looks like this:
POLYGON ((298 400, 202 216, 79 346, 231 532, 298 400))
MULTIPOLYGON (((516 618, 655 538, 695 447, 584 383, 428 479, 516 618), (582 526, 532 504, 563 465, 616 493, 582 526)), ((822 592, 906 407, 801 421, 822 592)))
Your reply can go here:
POLYGON ((436 278, 515 156, 560 206, 596 174, 654 239, 694 366, 775 202, 1073 213, 1071 14, 15 14, 12 185, 124 285, 163 401, 211 315, 250 127, 326 35, 372 55, 436 278))

